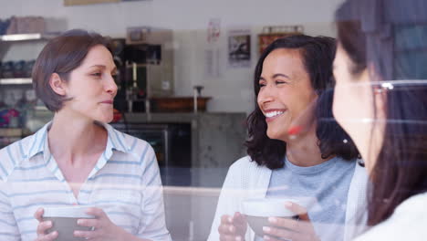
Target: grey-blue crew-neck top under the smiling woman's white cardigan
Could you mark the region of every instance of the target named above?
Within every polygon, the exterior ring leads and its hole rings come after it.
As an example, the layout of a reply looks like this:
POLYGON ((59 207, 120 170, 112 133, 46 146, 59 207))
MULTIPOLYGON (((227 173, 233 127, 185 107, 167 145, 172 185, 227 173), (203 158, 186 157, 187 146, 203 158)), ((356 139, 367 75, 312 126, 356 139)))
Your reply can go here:
POLYGON ((322 241, 343 240, 355 162, 335 157, 315 166, 301 167, 286 159, 283 168, 273 171, 266 198, 301 200, 322 241))

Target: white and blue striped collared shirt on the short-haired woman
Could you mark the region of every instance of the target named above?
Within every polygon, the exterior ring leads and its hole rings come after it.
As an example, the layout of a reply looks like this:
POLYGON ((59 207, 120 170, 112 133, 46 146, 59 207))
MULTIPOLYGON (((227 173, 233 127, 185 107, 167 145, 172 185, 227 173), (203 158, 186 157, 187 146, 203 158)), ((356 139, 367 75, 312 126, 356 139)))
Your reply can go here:
POLYGON ((165 226, 161 178, 150 144, 101 124, 107 148, 78 197, 49 152, 47 123, 0 150, 0 240, 34 240, 38 207, 89 205, 134 236, 171 240, 165 226))

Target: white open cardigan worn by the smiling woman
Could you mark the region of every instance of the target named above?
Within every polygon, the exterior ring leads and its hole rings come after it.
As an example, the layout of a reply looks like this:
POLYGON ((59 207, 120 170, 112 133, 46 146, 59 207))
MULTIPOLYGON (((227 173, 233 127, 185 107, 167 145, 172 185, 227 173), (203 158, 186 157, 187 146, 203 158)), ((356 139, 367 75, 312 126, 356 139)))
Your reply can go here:
MULTIPOLYGON (((349 186, 346 210, 346 227, 344 241, 349 241, 359 235, 366 224, 366 185, 368 182, 365 168, 355 162, 356 168, 349 186)), ((218 205, 213 218, 213 225, 208 241, 218 241, 218 226, 222 215, 242 213, 241 204, 246 198, 266 197, 272 171, 265 166, 258 166, 249 156, 234 162, 225 177, 223 189, 219 196, 218 205)), ((255 234, 247 228, 246 241, 252 241, 255 234)))

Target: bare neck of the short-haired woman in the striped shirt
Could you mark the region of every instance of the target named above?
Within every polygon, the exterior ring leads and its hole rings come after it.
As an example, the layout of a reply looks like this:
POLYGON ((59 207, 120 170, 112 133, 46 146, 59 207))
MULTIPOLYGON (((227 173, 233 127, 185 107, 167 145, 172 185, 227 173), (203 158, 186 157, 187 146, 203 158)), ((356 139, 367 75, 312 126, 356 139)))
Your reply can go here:
POLYGON ((77 162, 105 149, 107 131, 93 120, 77 118, 69 113, 57 112, 47 134, 49 150, 57 160, 77 162))

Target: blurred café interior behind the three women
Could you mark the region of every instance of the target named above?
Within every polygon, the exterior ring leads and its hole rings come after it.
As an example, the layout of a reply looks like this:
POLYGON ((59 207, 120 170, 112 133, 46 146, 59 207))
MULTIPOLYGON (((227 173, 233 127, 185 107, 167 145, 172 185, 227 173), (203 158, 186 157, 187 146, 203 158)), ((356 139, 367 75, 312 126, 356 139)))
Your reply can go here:
POLYGON ((245 155, 253 72, 266 45, 335 37, 340 0, 0 0, 0 147, 52 118, 32 89, 47 40, 72 28, 109 36, 120 131, 149 141, 174 240, 207 238, 228 167, 245 155))

